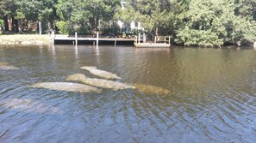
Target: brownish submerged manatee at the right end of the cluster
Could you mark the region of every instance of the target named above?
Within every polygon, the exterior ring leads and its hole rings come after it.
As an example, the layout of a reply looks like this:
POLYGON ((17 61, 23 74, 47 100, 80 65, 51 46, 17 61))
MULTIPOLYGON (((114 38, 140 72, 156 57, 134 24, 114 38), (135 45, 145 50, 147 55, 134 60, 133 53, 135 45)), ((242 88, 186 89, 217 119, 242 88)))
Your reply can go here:
POLYGON ((136 89, 138 89, 140 92, 144 92, 146 94, 155 94, 155 95, 167 95, 171 93, 170 90, 159 87, 159 86, 152 86, 152 85, 145 85, 145 84, 138 84, 133 83, 131 84, 136 89))

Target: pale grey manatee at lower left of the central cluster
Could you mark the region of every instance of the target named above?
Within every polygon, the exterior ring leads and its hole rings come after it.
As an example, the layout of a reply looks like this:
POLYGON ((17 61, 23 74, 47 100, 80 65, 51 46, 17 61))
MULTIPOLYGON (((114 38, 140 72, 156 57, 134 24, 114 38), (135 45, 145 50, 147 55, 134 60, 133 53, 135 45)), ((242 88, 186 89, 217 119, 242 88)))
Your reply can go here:
POLYGON ((70 82, 41 82, 32 85, 34 88, 46 88, 56 91, 66 91, 66 92, 101 92, 93 86, 87 86, 84 84, 70 83, 70 82))

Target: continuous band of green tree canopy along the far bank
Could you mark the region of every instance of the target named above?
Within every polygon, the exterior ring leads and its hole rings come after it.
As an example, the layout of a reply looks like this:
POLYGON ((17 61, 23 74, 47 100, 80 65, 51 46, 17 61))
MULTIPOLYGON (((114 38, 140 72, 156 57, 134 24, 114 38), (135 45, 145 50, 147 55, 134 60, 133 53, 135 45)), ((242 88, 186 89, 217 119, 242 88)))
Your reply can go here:
POLYGON ((144 33, 172 35, 178 45, 239 45, 256 41, 256 0, 1 0, 0 21, 5 31, 41 21, 59 33, 134 21, 144 33))

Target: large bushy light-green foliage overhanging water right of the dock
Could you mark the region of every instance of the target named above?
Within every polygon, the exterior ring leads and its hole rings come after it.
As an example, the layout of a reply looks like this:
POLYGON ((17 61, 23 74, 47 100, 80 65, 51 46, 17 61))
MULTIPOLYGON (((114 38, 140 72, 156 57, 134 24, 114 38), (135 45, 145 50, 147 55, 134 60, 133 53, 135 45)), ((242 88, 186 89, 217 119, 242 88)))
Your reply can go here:
MULTIPOLYGON (((191 0, 176 41, 184 45, 224 45, 255 39, 253 18, 234 15, 233 0, 191 0), (184 28, 185 27, 185 28, 184 28)), ((252 13, 251 13, 252 14, 252 13)))

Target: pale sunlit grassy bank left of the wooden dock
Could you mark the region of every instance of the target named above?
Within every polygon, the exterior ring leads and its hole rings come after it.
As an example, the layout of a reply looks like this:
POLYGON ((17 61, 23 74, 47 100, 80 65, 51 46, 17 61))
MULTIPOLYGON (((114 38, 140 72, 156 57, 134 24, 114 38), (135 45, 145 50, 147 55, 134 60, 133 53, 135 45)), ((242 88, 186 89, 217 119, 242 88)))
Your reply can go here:
POLYGON ((51 37, 48 34, 10 34, 0 35, 0 45, 48 45, 51 37))

